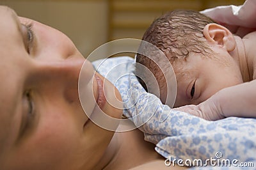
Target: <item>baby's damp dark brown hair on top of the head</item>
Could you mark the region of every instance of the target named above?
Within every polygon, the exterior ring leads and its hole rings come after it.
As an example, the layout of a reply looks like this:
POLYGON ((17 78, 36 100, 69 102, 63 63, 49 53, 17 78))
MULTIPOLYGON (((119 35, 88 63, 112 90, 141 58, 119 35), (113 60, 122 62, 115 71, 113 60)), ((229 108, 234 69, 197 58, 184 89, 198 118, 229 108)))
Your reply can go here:
MULTIPOLYGON (((154 20, 144 33, 142 40, 152 43, 162 50, 173 65, 175 61, 186 59, 189 52, 205 55, 212 52, 204 43, 203 34, 204 27, 210 23, 215 22, 202 13, 193 10, 173 10, 154 20)), ((145 49, 139 48, 138 52, 143 50, 145 49)), ((157 58, 157 55, 152 58, 156 61, 161 60, 161 58, 157 58)), ((163 72, 152 59, 137 54, 136 63, 146 66, 155 75, 158 83, 163 81, 163 72)), ((168 68, 162 68, 162 70, 166 69, 168 68)), ((141 80, 147 79, 147 76, 143 75, 137 67, 135 72, 136 75, 140 75, 138 80, 147 90, 145 82, 141 80)), ((164 88, 164 85, 159 84, 159 88, 164 88)))

